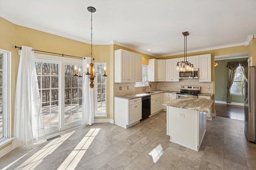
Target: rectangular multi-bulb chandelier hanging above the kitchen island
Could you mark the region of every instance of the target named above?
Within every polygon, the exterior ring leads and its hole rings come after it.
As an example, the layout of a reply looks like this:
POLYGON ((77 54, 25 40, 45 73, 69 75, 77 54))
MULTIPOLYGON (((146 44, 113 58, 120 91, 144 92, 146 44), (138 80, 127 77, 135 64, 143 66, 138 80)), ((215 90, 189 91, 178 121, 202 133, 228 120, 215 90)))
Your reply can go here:
POLYGON ((187 36, 189 35, 188 31, 183 32, 182 34, 184 35, 184 61, 181 61, 181 62, 177 63, 177 70, 180 70, 180 71, 185 71, 185 70, 194 71, 193 64, 188 63, 188 61, 187 61, 187 36), (179 64, 180 64, 180 66, 179 66, 179 64), (186 66, 186 68, 185 68, 185 66, 186 66))

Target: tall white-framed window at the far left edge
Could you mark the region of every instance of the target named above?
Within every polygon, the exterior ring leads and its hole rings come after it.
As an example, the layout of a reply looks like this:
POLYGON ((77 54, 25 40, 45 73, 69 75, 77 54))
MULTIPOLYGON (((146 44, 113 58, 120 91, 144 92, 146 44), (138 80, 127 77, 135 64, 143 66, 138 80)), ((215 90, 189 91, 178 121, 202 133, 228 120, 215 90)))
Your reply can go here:
POLYGON ((10 75, 11 52, 0 49, 0 147, 11 139, 10 75))

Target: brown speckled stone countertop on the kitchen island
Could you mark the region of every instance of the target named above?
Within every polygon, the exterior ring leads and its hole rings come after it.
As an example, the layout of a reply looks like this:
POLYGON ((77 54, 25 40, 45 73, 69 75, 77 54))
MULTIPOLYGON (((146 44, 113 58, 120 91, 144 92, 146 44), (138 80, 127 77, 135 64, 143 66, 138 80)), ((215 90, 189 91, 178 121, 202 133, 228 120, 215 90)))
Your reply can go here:
POLYGON ((214 100, 181 97, 163 104, 164 106, 179 107, 182 109, 208 112, 214 100))

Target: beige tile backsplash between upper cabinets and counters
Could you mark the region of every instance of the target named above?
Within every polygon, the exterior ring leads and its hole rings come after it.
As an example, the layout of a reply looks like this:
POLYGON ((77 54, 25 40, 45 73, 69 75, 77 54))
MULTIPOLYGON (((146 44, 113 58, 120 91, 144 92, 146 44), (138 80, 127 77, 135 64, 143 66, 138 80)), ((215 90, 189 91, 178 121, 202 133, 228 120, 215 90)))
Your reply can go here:
MULTIPOLYGON (((213 93, 213 82, 199 82, 193 79, 181 79, 179 82, 150 82, 152 87, 146 86, 146 92, 154 90, 180 91, 180 86, 200 86, 201 93, 213 93), (208 89, 208 86, 210 89, 208 89)), ((123 96, 127 94, 139 94, 144 92, 143 87, 135 87, 135 82, 114 83, 114 96, 123 96), (127 89, 128 86, 128 89, 127 89), (122 87, 122 90, 119 88, 122 87)))

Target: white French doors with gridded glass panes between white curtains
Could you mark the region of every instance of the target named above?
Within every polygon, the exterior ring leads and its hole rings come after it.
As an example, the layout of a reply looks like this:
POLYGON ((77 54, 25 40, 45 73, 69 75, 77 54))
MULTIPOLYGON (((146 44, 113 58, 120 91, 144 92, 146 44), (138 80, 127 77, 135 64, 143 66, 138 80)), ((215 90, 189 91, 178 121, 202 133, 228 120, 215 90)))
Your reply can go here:
POLYGON ((82 83, 73 76, 75 67, 82 71, 81 63, 36 58, 46 135, 81 125, 82 83))

